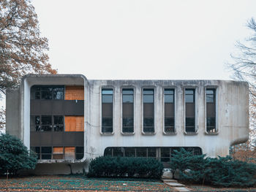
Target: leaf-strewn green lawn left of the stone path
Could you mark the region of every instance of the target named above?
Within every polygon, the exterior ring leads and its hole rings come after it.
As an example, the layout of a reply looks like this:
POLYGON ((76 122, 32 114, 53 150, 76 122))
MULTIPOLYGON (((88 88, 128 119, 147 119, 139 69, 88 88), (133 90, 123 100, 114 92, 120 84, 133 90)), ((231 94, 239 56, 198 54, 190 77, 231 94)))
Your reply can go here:
POLYGON ((0 177, 0 191, 175 191, 160 180, 86 178, 84 176, 0 177))

